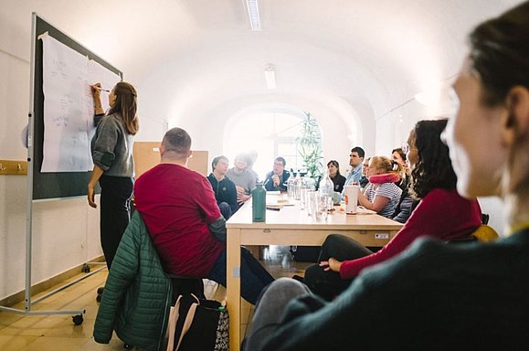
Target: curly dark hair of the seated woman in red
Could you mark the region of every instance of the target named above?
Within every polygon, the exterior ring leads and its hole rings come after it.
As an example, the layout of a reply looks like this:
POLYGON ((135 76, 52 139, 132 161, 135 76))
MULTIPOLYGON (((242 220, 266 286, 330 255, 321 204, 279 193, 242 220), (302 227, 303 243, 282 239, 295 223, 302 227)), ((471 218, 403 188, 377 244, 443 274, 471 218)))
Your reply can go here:
POLYGON ((449 148, 440 139, 448 120, 425 120, 415 124, 415 147, 418 163, 411 171, 410 192, 426 197, 434 188, 455 189, 457 177, 450 163, 449 148))

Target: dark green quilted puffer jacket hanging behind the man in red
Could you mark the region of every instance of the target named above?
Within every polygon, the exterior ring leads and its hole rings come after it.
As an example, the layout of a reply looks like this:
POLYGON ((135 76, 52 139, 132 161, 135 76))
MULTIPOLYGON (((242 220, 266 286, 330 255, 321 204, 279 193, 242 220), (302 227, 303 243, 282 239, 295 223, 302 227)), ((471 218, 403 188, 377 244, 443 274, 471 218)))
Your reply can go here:
POLYGON ((125 344, 159 350, 164 345, 172 289, 136 211, 123 233, 105 283, 94 325, 95 341, 108 344, 115 329, 125 344))

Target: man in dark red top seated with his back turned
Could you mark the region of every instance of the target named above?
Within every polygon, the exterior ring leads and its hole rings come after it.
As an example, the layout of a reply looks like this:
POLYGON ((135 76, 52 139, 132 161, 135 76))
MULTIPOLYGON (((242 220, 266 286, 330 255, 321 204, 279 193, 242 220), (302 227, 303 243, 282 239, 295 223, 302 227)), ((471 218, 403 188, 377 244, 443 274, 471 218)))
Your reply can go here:
MULTIPOLYGON (((180 128, 169 130, 160 154, 160 165, 138 178, 134 195, 164 270, 226 286, 226 220, 206 177, 187 168, 191 137, 180 128)), ((254 304, 273 281, 244 248, 240 277, 242 297, 254 304)))

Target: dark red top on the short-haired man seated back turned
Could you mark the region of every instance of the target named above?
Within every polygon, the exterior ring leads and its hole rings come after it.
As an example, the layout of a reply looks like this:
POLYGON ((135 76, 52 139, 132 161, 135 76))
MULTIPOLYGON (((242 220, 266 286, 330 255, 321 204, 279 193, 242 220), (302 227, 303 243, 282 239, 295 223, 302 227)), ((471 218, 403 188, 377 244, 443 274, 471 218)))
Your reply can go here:
POLYGON ((156 165, 136 180, 134 200, 165 271, 206 277, 226 249, 208 228, 220 210, 206 177, 181 165, 156 165))

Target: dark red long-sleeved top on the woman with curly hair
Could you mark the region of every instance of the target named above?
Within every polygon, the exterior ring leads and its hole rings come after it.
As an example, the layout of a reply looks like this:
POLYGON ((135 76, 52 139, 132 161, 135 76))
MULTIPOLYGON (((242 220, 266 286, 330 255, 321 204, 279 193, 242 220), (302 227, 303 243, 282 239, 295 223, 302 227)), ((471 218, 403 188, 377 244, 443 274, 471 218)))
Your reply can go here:
POLYGON ((480 226, 481 207, 477 200, 460 197, 455 190, 433 189, 384 248, 360 259, 344 261, 340 276, 352 279, 366 267, 397 256, 418 237, 465 239, 480 226))

